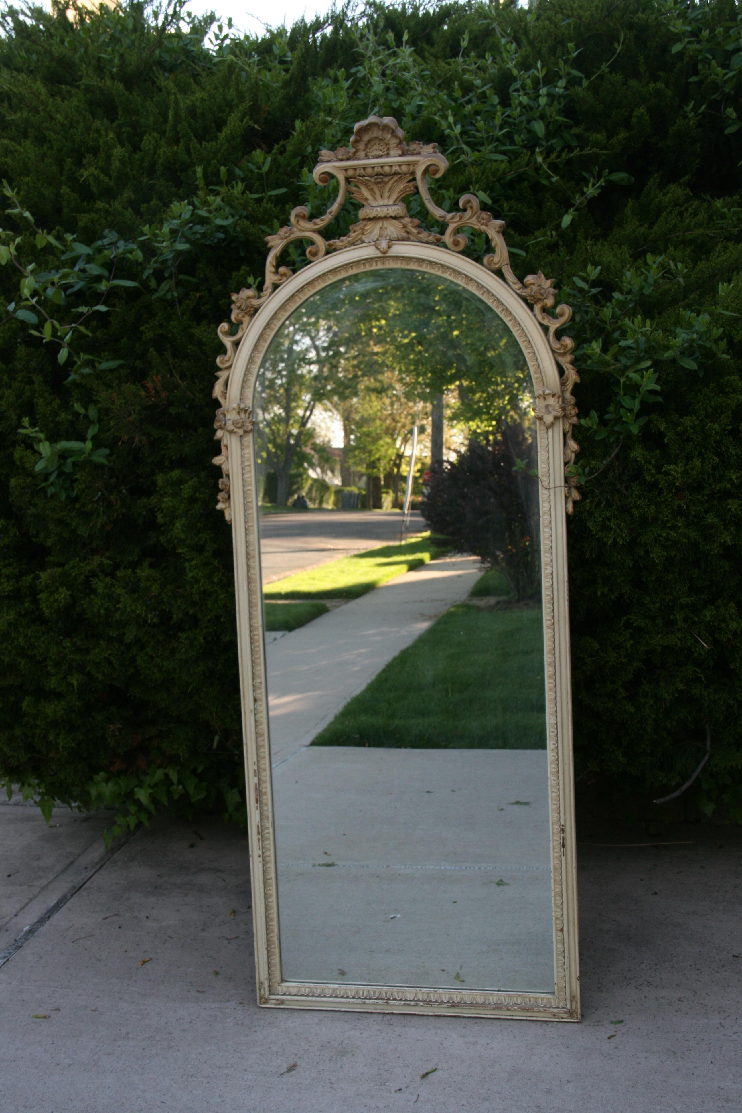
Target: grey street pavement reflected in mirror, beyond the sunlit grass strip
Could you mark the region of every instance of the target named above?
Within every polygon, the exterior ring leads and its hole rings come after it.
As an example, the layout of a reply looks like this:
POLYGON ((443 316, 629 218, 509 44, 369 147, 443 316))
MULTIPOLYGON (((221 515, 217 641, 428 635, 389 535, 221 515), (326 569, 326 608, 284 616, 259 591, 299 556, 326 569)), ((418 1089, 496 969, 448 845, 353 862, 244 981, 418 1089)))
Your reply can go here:
MULTIPOLYGON (((413 511, 408 533, 425 530, 413 511)), ((313 510, 260 515, 263 582, 280 580, 305 568, 399 541, 402 514, 394 511, 313 510)))

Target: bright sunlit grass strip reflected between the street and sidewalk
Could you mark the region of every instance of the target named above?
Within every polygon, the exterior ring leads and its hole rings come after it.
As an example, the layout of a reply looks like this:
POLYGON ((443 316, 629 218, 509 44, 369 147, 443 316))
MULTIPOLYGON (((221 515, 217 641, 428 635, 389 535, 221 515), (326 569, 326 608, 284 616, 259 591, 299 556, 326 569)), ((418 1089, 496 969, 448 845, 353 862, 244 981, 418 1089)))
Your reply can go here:
POLYGON ((424 534, 404 545, 368 549, 354 556, 343 556, 319 568, 274 580, 263 589, 269 599, 357 599, 404 572, 427 564, 442 550, 424 534))

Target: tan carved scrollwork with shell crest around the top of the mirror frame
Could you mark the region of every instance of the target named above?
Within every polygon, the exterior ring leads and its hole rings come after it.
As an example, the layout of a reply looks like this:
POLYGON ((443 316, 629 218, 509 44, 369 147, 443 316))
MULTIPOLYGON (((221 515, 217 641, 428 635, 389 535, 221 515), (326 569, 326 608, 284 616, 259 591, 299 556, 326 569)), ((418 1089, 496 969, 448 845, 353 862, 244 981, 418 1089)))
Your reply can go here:
MULTIPOLYGON (((448 169, 447 159, 435 144, 405 142, 402 128, 392 116, 369 116, 356 124, 349 147, 323 150, 314 168, 314 179, 320 186, 328 186, 333 178, 338 184, 337 197, 330 208, 319 217, 309 219, 308 210, 299 206, 291 211, 289 224, 275 235, 267 236, 269 247, 263 290, 244 288, 231 295, 231 325, 219 325, 218 335, 227 348, 217 358, 217 382, 214 387, 221 408, 217 413, 217 439, 222 441, 222 451, 214 463, 222 469, 219 481, 218 508, 224 510, 227 521, 231 521, 229 504, 229 461, 224 433, 237 432, 219 424, 225 414, 229 373, 245 332, 258 312, 274 293, 276 286, 291 277, 289 267, 279 266, 278 259, 284 248, 296 240, 309 242, 309 263, 321 259, 327 252, 339 252, 359 244, 373 244, 385 255, 392 244, 406 240, 435 244, 463 252, 467 246, 464 228, 484 233, 494 250, 484 258, 484 265, 493 272, 501 272, 507 284, 531 306, 536 321, 546 332, 554 357, 562 367, 561 397, 537 397, 534 412, 547 429, 560 421, 564 432, 565 498, 567 513, 572 513, 574 502, 581 498, 574 462, 580 451, 573 431, 577 424, 577 406, 572 394, 580 376, 573 364, 574 341, 570 336, 557 337, 556 333, 572 318, 568 305, 557 305, 552 316, 547 311, 554 306, 556 293, 552 278, 542 272, 527 275, 523 283, 516 277, 509 264, 509 255, 503 236, 504 220, 497 220, 491 213, 483 213, 474 194, 464 194, 459 209, 447 213, 431 197, 427 178, 439 178, 448 169), (428 213, 445 226, 441 233, 431 232, 421 225, 407 210, 406 197, 417 193, 428 213), (349 196, 362 203, 357 221, 339 239, 325 239, 323 230, 335 219, 349 196), (233 325, 236 329, 233 331, 233 325)), ((542 395, 544 392, 540 392, 542 395)), ((244 430, 249 432, 249 430, 244 430)))

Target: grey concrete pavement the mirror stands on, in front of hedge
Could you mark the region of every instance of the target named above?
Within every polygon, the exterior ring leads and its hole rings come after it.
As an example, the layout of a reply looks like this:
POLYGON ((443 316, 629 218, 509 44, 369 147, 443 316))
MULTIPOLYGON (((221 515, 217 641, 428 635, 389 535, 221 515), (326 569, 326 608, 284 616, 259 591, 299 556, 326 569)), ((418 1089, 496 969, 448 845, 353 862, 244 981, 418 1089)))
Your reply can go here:
MULTIPOLYGON (((46 846, 27 880, 51 899, 79 824, 0 825, 3 881, 46 846)), ((284 1012, 255 1004, 245 836, 158 818, 0 968, 2 1111, 736 1113, 741 850, 711 827, 581 837, 581 1024, 284 1012)))

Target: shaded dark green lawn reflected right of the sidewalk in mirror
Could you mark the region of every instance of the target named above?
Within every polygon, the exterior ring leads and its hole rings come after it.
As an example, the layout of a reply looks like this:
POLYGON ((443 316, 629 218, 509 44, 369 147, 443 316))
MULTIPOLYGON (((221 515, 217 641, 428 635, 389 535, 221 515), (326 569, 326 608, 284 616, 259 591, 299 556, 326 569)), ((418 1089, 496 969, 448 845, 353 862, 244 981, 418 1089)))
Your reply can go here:
POLYGON ((541 610, 453 607, 311 745, 545 749, 541 610))

